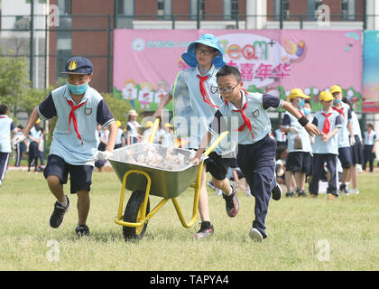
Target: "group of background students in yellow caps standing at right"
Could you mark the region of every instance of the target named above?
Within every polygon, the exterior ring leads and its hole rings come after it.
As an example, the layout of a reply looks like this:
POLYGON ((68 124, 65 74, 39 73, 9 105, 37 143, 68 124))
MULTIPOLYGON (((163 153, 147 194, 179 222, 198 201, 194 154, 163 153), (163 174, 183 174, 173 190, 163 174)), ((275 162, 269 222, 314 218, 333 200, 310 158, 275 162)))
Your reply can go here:
POLYGON ((286 196, 307 196, 306 180, 312 198, 319 195, 319 181, 328 182, 328 199, 359 193, 357 172, 361 168, 365 171, 366 163, 369 171, 374 172, 374 126, 366 124, 362 135, 358 117, 337 85, 320 93, 322 108, 314 115, 310 113, 309 97, 301 89, 292 89, 289 100, 310 122, 319 126, 321 134, 309 136, 287 113, 273 131, 277 144, 277 181, 287 189, 286 196), (350 189, 347 184, 351 184, 350 189))

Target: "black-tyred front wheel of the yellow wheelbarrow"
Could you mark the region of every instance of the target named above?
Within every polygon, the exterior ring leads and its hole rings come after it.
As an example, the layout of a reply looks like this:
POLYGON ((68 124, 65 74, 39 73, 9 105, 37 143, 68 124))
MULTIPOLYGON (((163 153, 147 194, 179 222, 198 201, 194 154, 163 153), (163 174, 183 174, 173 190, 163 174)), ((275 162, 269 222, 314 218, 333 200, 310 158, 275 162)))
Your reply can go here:
MULTIPOLYGON (((142 219, 150 212, 150 200, 147 199, 146 214, 143 216, 143 201, 144 191, 134 191, 126 204, 124 221, 135 223, 142 219)), ((144 231, 147 228, 147 223, 140 227, 123 227, 123 235, 125 241, 143 238, 144 231)))

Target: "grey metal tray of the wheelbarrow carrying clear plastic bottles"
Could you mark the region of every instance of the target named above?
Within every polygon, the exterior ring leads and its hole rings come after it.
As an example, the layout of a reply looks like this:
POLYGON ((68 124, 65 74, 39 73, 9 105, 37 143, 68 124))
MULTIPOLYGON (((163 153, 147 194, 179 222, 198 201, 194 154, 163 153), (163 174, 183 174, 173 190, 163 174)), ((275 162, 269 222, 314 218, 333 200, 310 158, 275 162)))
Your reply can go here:
MULTIPOLYGON (((115 170, 120 182, 123 182, 125 173, 130 170, 147 172, 152 180, 150 195, 167 199, 178 197, 195 182, 200 166, 194 165, 193 163, 189 163, 185 167, 180 168, 180 170, 166 170, 139 163, 128 163, 124 160, 127 150, 133 150, 133 152, 138 154, 138 152, 143 151, 146 145, 153 145, 156 152, 161 155, 165 155, 168 149, 168 146, 162 144, 139 143, 126 145, 114 151, 113 157, 108 161, 115 170)), ((184 154, 184 161, 188 161, 191 151, 182 148, 173 148, 172 154, 184 154)), ((204 161, 207 158, 208 156, 203 154, 200 161, 204 161)), ((129 191, 146 191, 146 185, 147 180, 143 174, 134 173, 128 178, 126 189, 129 191)))

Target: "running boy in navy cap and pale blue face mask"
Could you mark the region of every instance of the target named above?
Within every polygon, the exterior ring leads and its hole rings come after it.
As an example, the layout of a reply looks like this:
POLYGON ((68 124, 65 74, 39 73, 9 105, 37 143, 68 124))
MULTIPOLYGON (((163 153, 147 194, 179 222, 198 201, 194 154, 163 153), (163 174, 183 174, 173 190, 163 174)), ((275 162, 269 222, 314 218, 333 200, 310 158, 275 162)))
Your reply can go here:
POLYGON ((50 154, 43 175, 48 182, 51 193, 56 198, 50 225, 59 228, 70 201, 63 191, 63 184, 70 179, 70 192, 78 196, 78 226, 76 234, 89 235, 87 218, 89 212, 89 191, 95 157, 106 160, 113 153, 116 143, 117 126, 106 101, 88 86, 93 78, 93 66, 87 58, 78 56, 69 59, 65 65, 67 82, 51 91, 48 98, 35 107, 23 130, 17 135, 13 144, 22 142, 34 126, 38 117, 49 120, 57 117, 57 124, 52 135, 50 154), (105 152, 97 153, 99 143, 97 124, 109 128, 109 140, 105 152))

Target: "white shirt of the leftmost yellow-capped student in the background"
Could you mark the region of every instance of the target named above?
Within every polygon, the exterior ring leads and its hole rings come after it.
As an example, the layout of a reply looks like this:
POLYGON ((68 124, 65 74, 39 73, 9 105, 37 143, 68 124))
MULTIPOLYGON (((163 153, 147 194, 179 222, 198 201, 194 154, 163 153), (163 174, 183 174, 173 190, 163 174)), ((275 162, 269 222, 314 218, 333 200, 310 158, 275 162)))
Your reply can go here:
MULTIPOLYGON (((300 109, 300 114, 304 115, 304 111, 300 109)), ((296 133, 288 132, 288 151, 290 153, 292 152, 305 152, 305 153, 311 153, 312 152, 312 146, 310 144, 310 135, 308 134, 307 130, 300 125, 298 119, 296 117, 293 117, 288 111, 285 112, 283 121, 282 121, 282 127, 284 128, 290 128, 291 126, 296 127, 299 130, 299 135, 302 142, 302 149, 295 150, 294 143, 295 143, 295 137, 298 135, 296 133)))

